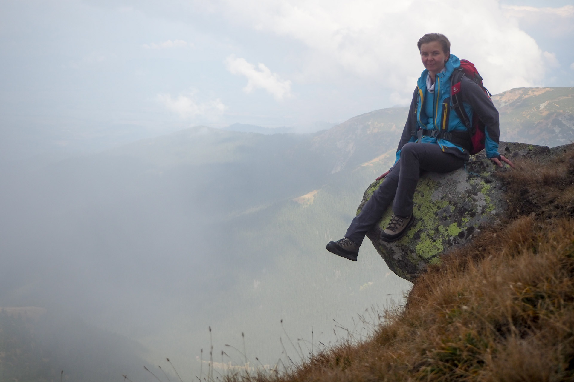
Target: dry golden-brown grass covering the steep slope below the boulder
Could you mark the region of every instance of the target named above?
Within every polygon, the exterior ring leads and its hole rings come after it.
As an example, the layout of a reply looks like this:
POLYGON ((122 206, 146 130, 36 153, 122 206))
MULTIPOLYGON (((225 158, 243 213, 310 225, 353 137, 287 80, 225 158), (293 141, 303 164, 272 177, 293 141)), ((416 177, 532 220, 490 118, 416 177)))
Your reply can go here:
POLYGON ((253 381, 574 380, 574 148, 503 173, 508 219, 430 266, 368 341, 253 381))

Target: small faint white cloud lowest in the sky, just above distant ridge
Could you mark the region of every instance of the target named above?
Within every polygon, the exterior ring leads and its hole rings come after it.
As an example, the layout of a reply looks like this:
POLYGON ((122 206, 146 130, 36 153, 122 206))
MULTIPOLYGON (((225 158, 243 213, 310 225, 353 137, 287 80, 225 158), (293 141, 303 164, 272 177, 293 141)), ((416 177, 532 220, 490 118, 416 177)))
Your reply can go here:
POLYGON ((193 119, 195 117, 207 117, 212 119, 222 113, 227 108, 219 99, 197 102, 195 94, 180 94, 173 99, 171 94, 157 94, 157 101, 163 104, 169 111, 179 114, 183 119, 193 119))

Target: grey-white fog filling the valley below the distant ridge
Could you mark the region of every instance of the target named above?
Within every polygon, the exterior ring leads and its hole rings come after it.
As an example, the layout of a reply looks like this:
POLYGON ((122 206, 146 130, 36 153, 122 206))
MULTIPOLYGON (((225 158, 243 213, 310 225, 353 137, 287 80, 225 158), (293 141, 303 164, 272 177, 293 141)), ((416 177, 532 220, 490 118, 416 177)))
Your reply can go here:
MULTIPOLYGON (((332 174, 339 153, 313 144, 327 139, 321 134, 198 127, 100 153, 3 163, 0 306, 46 308, 51 322, 76 317, 141 346, 131 345, 126 370, 143 366, 136 356, 148 366, 170 357, 190 380, 210 349, 210 326, 217 360, 223 350, 233 357, 223 363, 239 365, 245 356, 225 345, 242 348, 242 332, 247 357, 270 365, 308 356, 285 353, 280 337, 317 349, 347 338, 346 329, 369 333, 381 319, 371 308, 402 301, 409 283, 372 247, 356 264, 324 250, 352 218, 366 186, 352 170, 371 154, 332 174), (293 201, 319 189, 310 206, 293 201), (366 309, 371 325, 359 317, 366 309)), ((92 362, 79 357, 68 368, 92 362)))

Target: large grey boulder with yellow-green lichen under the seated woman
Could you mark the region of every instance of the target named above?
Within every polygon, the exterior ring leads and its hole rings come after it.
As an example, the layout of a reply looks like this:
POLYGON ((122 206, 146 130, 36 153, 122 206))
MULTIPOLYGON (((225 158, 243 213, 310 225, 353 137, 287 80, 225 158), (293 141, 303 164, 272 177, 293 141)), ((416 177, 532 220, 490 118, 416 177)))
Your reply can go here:
MULTIPOLYGON (((550 157, 554 149, 501 142, 499 151, 514 160, 524 156, 550 157)), ((416 220, 406 235, 394 243, 381 240, 381 232, 393 213, 391 207, 367 233, 389 269, 413 281, 427 264, 439 263, 441 255, 449 249, 467 243, 484 226, 497 221, 507 204, 506 188, 497 176, 492 176, 496 171, 506 169, 495 166, 482 151, 472 157, 466 168, 448 174, 423 174, 413 198, 416 220)), ((367 188, 357 214, 384 181, 376 181, 367 188)))

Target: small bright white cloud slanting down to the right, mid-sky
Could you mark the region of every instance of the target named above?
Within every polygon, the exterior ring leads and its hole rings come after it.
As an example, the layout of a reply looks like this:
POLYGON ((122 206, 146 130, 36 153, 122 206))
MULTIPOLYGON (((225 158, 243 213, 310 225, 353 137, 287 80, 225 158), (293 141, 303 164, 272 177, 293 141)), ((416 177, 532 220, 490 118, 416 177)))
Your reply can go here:
POLYGON ((243 88, 246 93, 251 93, 254 89, 265 89, 278 101, 291 96, 291 81, 282 80, 261 62, 257 64, 257 70, 245 58, 235 58, 232 54, 226 58, 225 63, 231 74, 247 77, 247 85, 243 88))

